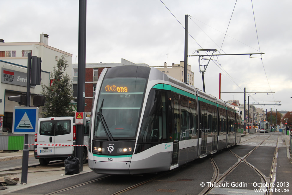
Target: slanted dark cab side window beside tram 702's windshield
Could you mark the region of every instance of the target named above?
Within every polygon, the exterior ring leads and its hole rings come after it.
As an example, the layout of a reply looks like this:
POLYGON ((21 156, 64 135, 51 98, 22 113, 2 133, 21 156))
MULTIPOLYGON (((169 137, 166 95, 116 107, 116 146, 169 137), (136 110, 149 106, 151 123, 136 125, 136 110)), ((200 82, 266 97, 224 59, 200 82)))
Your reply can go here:
POLYGON ((160 90, 151 89, 148 97, 138 142, 162 142, 166 138, 166 135, 163 136, 166 133, 166 117, 163 117, 165 111, 162 106, 165 104, 165 93, 163 101, 160 90))

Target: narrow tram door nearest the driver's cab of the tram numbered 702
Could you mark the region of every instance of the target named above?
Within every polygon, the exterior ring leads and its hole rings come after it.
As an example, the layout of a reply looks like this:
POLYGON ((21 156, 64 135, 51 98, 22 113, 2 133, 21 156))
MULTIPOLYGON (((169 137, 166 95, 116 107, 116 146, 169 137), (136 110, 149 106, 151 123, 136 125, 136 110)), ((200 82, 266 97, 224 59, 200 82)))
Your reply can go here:
POLYGON ((180 114, 180 100, 179 95, 177 93, 172 93, 171 98, 171 107, 173 108, 173 120, 172 120, 172 128, 171 135, 173 140, 173 151, 172 151, 172 160, 171 165, 175 165, 178 163, 178 155, 179 155, 179 141, 181 135, 181 114, 180 114))

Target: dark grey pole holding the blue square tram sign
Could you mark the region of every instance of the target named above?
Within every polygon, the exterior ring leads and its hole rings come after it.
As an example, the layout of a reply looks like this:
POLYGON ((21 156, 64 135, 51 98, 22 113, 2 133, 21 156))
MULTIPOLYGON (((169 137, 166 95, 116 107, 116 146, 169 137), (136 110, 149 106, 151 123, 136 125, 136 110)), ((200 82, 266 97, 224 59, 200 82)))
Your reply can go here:
MULTIPOLYGON (((26 106, 30 106, 30 70, 31 70, 31 53, 27 53, 27 90, 26 90, 26 106)), ((22 170, 21 170, 21 184, 27 183, 28 172, 28 134, 24 134, 24 149, 22 151, 22 170)))

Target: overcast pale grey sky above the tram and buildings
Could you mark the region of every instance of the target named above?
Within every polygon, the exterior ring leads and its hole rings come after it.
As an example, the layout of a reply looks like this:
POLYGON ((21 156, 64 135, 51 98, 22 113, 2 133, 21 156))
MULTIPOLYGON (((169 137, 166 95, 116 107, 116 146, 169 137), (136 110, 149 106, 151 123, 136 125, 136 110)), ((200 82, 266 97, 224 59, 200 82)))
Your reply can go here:
MULTIPOLYGON (((78 0, 1 1, 0 38, 6 43, 39 42, 43 32, 49 35, 50 46, 71 53, 72 63, 78 62, 78 6, 78 0)), ((291 8, 290 0, 88 0, 86 63, 124 58, 149 66, 179 64, 184 60, 183 27, 188 14, 188 55, 197 49, 265 53, 252 56, 256 58, 214 57, 204 74, 207 93, 219 97, 222 73, 222 92, 243 92, 245 87, 247 92, 274 92, 248 95, 251 102, 281 104, 257 108, 292 111, 291 8)), ((188 64, 194 85, 203 90, 198 58, 188 57, 188 64)), ((243 104, 244 95, 222 93, 221 99, 243 104)))

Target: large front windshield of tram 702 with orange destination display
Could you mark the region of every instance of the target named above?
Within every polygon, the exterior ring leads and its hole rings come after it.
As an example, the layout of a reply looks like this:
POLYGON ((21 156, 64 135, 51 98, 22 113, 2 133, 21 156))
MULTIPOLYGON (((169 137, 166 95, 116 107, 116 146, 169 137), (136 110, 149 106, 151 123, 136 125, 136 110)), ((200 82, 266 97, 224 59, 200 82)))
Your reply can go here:
POLYGON ((144 78, 104 79, 96 108, 93 139, 131 139, 136 135, 144 78))

